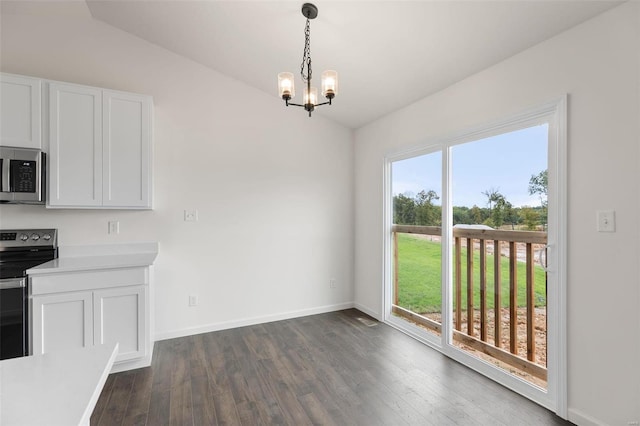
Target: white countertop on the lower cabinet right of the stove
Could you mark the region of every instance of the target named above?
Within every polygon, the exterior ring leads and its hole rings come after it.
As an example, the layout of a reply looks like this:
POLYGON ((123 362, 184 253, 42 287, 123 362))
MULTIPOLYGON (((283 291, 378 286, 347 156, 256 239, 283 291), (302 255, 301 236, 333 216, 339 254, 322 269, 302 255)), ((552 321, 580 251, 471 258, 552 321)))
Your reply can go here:
POLYGON ((28 275, 57 274, 96 269, 132 268, 153 264, 157 243, 61 246, 58 259, 35 266, 28 275))

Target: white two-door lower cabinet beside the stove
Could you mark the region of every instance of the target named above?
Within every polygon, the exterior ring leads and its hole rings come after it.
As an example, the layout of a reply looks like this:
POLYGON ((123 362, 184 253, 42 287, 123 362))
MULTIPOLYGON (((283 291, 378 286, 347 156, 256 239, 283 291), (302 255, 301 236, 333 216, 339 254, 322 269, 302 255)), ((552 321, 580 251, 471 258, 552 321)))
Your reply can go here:
POLYGON ((32 276, 32 353, 118 343, 113 371, 148 366, 148 275, 145 267, 32 276))

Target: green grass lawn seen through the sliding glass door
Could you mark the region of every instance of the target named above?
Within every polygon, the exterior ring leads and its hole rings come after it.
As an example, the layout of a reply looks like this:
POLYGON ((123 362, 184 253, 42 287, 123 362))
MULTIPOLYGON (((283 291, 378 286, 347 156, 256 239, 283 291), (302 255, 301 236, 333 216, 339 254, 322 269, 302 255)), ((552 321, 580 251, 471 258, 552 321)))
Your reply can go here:
MULTIPOLYGON (((423 238, 398 234, 398 304, 416 313, 441 312, 442 267, 441 245, 423 238)), ((462 308, 466 309, 467 253, 462 250, 462 308)), ((474 306, 480 308, 480 254, 474 251, 474 306)), ((502 306, 509 307, 509 259, 501 259, 502 306)), ((454 272, 455 273, 455 272, 454 272)), ((487 309, 493 308, 493 256, 487 255, 487 309)), ((544 306, 545 273, 534 267, 536 306, 544 306)), ((524 262, 518 262, 518 306, 526 306, 526 271, 524 262)), ((455 299, 454 299, 455 300, 455 299)), ((454 302, 455 303, 455 302, 454 302)))

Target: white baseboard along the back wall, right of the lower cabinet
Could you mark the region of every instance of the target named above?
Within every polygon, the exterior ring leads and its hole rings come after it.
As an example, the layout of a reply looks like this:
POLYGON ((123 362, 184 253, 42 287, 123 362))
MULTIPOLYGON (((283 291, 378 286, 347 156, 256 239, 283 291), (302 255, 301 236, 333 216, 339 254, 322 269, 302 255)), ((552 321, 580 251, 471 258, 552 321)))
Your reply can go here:
MULTIPOLYGON (((233 321, 223 321, 219 323, 207 324, 198 327, 183 328, 180 330, 172 330, 163 333, 157 333, 154 336, 155 341, 174 339, 176 337, 192 336, 194 334, 210 333, 212 331, 228 330, 230 328, 246 327, 248 325, 264 324, 273 321, 282 321, 291 318, 306 317, 309 315, 324 314, 327 312, 341 311, 354 307, 353 302, 339 303, 335 305, 318 306, 316 308, 302 309, 299 311, 289 311, 273 315, 265 315, 260 317, 244 318, 233 321)), ((363 311, 364 312, 364 311, 363 311)), ((365 312, 366 313, 366 312, 365 312)))

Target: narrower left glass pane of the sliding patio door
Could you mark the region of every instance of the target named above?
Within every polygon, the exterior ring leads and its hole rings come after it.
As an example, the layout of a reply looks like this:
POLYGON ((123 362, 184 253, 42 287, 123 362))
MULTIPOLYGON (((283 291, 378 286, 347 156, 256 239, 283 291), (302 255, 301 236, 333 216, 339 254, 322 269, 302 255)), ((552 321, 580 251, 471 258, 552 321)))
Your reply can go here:
POLYGON ((391 163, 391 314, 418 333, 442 328, 442 153, 391 163))

